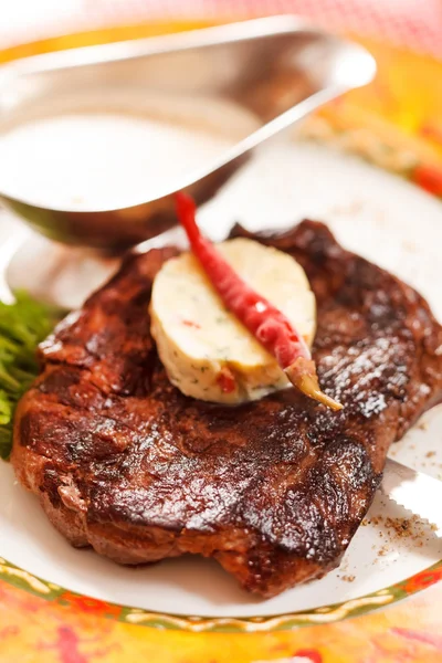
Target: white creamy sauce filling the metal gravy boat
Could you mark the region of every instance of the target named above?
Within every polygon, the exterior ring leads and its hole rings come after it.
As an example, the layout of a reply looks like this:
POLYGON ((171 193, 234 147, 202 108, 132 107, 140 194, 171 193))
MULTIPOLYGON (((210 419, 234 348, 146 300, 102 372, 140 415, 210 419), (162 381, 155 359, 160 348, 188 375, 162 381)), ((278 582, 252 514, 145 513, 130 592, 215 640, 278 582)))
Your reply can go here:
POLYGON ((233 144, 143 115, 39 118, 0 135, 0 191, 43 207, 129 207, 210 166, 233 144))

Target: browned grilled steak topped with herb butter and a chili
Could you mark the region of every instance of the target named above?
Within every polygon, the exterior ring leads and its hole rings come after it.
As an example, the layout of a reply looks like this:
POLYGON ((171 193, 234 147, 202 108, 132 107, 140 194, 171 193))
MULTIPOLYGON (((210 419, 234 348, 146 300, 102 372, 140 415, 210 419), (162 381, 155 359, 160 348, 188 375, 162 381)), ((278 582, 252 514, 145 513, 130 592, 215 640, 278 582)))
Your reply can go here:
POLYGON ((338 565, 388 448, 442 400, 442 330, 420 295, 320 223, 255 239, 304 266, 320 382, 343 411, 295 389, 230 408, 171 387, 148 316, 167 248, 127 259, 43 343, 12 462, 72 545, 129 565, 211 556, 271 597, 338 565))

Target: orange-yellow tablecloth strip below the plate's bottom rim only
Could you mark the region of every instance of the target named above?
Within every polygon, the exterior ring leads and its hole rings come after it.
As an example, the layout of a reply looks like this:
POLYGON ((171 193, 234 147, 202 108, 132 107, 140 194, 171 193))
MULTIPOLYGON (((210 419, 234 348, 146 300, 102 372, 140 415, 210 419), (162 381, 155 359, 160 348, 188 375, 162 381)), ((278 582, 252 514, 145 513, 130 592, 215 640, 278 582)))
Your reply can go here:
POLYGON ((161 631, 107 619, 102 614, 104 606, 85 599, 77 606, 62 607, 0 582, 0 661, 297 663, 296 656, 312 663, 442 660, 442 587, 366 617, 273 633, 161 631))

